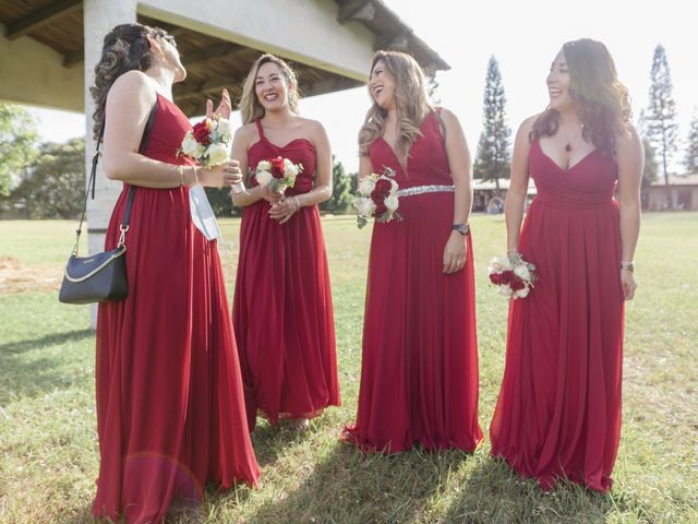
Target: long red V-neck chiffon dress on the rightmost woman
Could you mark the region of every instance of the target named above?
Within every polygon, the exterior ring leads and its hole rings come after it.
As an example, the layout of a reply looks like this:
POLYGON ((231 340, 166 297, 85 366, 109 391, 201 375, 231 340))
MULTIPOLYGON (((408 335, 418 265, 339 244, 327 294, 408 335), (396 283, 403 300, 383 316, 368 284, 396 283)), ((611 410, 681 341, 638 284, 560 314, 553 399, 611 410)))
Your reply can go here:
POLYGON ((607 491, 621 433, 617 168, 594 150, 565 170, 535 141, 529 172, 538 195, 519 249, 538 281, 510 305, 492 453, 546 490, 568 478, 607 491))

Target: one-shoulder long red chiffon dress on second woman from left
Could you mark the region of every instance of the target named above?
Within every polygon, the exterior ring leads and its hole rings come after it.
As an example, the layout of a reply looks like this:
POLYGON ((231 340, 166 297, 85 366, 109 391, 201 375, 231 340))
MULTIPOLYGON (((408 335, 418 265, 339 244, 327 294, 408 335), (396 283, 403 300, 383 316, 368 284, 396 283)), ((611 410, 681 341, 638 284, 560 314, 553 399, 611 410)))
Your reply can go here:
MULTIPOLYGON (((302 164, 286 195, 313 189, 315 147, 297 139, 282 147, 264 135, 248 151, 252 170, 277 156, 302 164)), ((252 183, 256 180, 252 177, 252 183)), ((232 306, 244 382, 248 425, 257 413, 313 418, 339 405, 335 323, 325 240, 316 205, 301 207, 285 224, 269 217, 260 200, 244 209, 232 306)))

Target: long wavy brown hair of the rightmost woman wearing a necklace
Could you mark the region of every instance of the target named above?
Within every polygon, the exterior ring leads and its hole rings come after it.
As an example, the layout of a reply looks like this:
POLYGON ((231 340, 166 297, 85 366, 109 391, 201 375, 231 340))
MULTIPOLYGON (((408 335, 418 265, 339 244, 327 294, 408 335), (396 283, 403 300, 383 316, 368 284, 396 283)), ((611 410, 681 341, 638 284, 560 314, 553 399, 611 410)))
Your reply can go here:
MULTIPOLYGON (((613 156, 616 135, 630 126, 628 90, 618 81, 606 46, 590 38, 567 41, 563 55, 569 70, 569 95, 578 104, 582 136, 602 154, 613 156)), ((531 142, 552 136, 559 127, 559 112, 546 109, 533 122, 531 142)))

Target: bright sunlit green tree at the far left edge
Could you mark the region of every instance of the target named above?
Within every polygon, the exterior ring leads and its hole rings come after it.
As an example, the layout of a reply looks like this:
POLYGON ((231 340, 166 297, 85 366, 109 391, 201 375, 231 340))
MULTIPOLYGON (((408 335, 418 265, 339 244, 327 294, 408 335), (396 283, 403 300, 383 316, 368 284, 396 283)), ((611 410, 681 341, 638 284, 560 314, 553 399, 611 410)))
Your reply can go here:
POLYGON ((9 195, 13 178, 36 158, 36 122, 29 112, 0 104, 0 195, 9 195))

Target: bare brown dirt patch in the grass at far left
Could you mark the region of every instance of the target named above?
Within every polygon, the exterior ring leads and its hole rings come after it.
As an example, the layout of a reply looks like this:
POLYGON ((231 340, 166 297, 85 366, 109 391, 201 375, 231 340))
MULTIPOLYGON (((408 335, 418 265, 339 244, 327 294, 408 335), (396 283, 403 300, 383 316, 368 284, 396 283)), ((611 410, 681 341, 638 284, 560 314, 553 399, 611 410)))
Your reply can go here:
POLYGON ((16 257, 0 257, 0 295, 55 291, 61 287, 62 278, 59 265, 25 265, 16 257))

